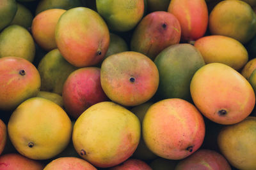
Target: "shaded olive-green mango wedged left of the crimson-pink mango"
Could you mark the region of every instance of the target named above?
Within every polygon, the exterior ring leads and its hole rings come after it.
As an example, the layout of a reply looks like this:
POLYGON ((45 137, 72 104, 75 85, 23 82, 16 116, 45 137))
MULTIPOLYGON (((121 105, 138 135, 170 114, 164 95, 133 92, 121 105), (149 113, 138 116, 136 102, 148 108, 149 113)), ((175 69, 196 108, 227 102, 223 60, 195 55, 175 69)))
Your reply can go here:
POLYGON ((42 82, 41 90, 54 92, 61 96, 68 75, 77 67, 68 63, 58 49, 54 49, 40 60, 37 69, 42 82))

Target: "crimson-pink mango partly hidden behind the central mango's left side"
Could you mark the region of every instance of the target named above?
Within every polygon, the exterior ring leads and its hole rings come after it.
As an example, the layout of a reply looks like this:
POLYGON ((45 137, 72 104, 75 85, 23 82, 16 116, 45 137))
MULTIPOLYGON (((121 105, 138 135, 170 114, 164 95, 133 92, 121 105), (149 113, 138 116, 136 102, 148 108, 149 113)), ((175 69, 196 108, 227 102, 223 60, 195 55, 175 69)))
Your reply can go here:
POLYGON ((100 85, 100 69, 83 67, 72 72, 63 85, 62 97, 68 115, 75 119, 93 104, 108 101, 100 85))

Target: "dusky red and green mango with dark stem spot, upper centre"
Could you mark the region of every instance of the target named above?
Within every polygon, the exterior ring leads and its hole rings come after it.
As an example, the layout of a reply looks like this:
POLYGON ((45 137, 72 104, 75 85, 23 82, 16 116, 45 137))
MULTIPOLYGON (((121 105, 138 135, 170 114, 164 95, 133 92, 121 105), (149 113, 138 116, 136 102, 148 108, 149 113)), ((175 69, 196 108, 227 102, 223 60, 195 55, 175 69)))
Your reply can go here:
POLYGON ((164 48, 179 43, 180 34, 179 20, 172 13, 152 12, 134 30, 131 51, 143 53, 154 60, 164 48))

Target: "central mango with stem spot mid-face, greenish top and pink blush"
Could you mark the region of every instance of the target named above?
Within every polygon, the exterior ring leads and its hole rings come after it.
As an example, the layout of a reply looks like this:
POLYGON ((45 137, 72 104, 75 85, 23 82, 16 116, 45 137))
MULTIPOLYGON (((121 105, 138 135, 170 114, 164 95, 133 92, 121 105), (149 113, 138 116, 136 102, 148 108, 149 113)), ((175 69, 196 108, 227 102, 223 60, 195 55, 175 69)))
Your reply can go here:
POLYGON ((154 96, 159 73, 156 64, 142 53, 116 53, 102 62, 100 83, 112 101, 136 106, 154 96))

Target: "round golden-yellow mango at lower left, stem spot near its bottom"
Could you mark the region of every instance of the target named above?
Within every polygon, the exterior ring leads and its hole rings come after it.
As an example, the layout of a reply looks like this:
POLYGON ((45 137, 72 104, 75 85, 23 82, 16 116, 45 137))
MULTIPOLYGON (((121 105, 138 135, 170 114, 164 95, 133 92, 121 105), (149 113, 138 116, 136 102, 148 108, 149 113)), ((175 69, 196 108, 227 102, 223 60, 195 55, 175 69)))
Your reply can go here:
POLYGON ((16 150, 35 160, 51 159, 68 145, 72 124, 58 104, 31 97, 13 111, 7 125, 16 150))

